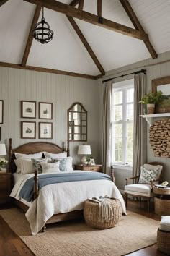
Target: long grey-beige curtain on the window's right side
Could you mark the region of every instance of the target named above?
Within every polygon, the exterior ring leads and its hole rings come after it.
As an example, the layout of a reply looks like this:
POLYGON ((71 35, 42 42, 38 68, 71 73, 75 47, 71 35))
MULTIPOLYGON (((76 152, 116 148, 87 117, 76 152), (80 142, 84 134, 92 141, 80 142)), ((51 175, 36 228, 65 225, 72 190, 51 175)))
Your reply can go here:
POLYGON ((143 106, 139 101, 146 94, 146 74, 134 76, 134 132, 133 132, 133 175, 140 174, 140 166, 146 162, 146 120, 140 117, 143 106))

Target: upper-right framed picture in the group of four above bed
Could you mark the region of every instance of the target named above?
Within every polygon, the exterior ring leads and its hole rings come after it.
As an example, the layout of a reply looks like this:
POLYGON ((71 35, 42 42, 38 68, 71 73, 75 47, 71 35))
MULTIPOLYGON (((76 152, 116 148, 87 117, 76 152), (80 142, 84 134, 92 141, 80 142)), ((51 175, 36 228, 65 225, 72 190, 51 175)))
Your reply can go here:
POLYGON ((39 102, 39 119, 53 119, 53 103, 39 102))

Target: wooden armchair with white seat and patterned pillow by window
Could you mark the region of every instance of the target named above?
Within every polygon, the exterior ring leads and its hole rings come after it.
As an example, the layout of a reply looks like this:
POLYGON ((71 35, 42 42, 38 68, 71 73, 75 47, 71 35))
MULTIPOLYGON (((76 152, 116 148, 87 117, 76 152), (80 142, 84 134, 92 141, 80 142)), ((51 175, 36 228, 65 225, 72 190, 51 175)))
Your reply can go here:
POLYGON ((145 163, 141 166, 140 175, 126 178, 125 185, 125 204, 128 204, 128 195, 133 197, 146 197, 148 200, 148 210, 150 209, 151 197, 154 197, 152 192, 153 184, 161 182, 163 166, 160 163, 145 163), (129 184, 132 181, 133 184, 129 184))

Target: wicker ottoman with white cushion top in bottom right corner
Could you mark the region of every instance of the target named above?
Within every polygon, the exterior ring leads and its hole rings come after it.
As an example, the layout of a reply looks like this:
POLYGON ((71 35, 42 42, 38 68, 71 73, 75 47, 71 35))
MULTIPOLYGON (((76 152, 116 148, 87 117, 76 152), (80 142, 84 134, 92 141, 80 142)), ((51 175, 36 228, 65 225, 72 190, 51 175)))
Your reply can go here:
POLYGON ((157 248, 170 255, 170 216, 162 216, 157 233, 157 248))

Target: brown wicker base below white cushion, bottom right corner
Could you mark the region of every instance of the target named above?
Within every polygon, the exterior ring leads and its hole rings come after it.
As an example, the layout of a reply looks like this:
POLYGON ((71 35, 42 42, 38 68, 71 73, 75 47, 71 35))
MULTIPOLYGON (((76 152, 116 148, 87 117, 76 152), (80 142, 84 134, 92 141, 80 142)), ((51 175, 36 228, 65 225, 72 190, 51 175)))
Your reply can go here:
POLYGON ((170 232, 158 229, 157 248, 159 251, 170 255, 170 232))

